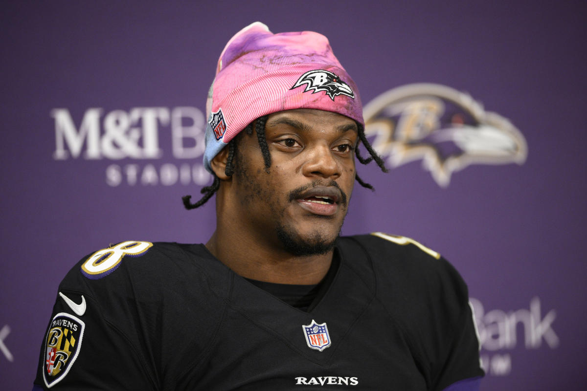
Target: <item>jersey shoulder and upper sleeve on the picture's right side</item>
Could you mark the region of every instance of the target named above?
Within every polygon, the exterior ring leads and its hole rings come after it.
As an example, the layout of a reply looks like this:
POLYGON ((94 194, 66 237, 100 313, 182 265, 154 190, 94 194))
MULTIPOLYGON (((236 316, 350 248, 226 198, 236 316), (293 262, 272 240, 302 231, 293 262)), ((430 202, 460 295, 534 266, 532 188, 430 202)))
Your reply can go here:
POLYGON ((377 304, 403 330, 430 382, 442 389, 482 376, 467 285, 458 271, 439 253, 408 237, 376 232, 348 239, 363 247, 370 259, 377 304))

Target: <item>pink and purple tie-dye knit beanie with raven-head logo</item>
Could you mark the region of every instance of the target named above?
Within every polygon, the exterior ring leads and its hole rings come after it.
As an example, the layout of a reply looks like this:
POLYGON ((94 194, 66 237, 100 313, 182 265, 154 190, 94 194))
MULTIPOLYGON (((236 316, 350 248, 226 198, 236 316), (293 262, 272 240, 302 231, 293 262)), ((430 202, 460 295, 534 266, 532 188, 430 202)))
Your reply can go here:
POLYGON ((355 82, 328 39, 303 31, 274 34, 255 22, 233 36, 218 59, 206 103, 204 166, 256 118, 294 108, 333 111, 363 123, 355 82))

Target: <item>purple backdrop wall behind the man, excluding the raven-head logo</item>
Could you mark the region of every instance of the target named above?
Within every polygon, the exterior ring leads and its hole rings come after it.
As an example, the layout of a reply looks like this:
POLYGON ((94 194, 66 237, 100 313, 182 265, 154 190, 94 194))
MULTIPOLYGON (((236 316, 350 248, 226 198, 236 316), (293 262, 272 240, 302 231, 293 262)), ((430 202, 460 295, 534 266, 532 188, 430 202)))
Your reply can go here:
POLYGON ((360 167, 376 192, 355 188, 343 233, 414 237, 460 270, 483 390, 581 388, 586 6, 397 3, 4 5, 0 388, 31 388, 58 283, 80 257, 208 239, 214 202, 186 212, 180 197, 207 179, 196 140, 217 57, 256 20, 328 36, 364 103, 437 83, 521 131, 524 164, 470 165, 444 188, 421 160, 360 167))

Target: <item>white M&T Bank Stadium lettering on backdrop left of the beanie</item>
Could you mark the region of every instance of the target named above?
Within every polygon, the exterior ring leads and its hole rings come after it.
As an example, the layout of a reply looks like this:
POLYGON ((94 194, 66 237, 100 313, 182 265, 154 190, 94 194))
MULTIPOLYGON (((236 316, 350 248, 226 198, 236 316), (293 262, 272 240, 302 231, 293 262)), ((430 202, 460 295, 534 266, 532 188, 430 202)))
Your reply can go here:
POLYGON ((53 159, 136 161, 108 165, 105 178, 110 186, 205 185, 210 179, 200 161, 205 121, 198 108, 134 107, 108 113, 88 108, 78 121, 67 108, 55 108, 50 115, 55 121, 53 159), (166 157, 173 162, 148 162, 166 157))

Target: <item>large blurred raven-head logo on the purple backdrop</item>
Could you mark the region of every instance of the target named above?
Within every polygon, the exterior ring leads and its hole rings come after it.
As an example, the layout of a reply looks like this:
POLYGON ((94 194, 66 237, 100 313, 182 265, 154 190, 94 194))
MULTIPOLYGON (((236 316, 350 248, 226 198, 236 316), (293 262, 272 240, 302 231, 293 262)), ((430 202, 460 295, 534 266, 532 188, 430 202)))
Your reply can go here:
POLYGON ((507 118, 485 111, 471 96, 439 84, 387 91, 364 108, 365 134, 397 167, 423 161, 438 185, 470 164, 523 164, 524 136, 507 118))

